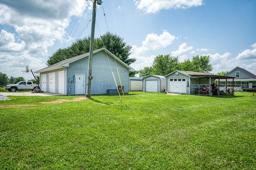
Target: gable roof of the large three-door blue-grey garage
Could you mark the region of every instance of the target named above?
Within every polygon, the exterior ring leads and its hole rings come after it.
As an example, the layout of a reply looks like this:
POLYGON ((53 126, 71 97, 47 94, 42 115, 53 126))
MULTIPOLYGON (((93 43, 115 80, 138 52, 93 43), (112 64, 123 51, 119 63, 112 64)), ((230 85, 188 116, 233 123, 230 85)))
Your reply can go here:
MULTIPOLYGON (((112 54, 110 51, 108 51, 106 48, 101 48, 101 49, 97 49, 97 50, 94 50, 93 51, 93 54, 95 53, 98 53, 99 51, 105 51, 107 53, 108 56, 110 57, 113 57, 116 61, 118 61, 119 63, 121 63, 122 65, 124 65, 126 68, 129 68, 129 71, 135 71, 132 67, 128 66, 126 63, 124 63, 122 60, 118 59, 118 57, 116 57, 114 54, 112 54)), ((78 61, 84 57, 88 57, 89 56, 89 53, 85 53, 85 54, 82 54, 82 55, 78 55, 78 56, 75 56, 75 57, 72 57, 72 58, 69 58, 69 59, 66 59, 66 60, 63 60, 63 61, 60 61, 58 63, 55 63, 55 64, 52 64, 48 67, 45 67, 45 68, 42 68, 40 70, 37 70, 36 72, 37 73, 40 73, 40 72, 45 72, 45 71, 50 71, 50 70, 56 70, 58 68, 63 68, 63 67, 66 67, 66 66, 69 66, 70 63, 73 63, 75 61, 78 61)))

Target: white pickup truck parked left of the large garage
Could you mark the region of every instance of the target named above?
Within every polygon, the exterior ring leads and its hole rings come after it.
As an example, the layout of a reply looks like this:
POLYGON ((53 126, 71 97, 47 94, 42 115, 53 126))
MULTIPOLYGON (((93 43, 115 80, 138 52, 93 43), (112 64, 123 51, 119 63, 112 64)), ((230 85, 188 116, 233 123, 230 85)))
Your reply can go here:
POLYGON ((16 92, 17 90, 34 90, 38 85, 33 84, 32 81, 20 81, 17 84, 8 84, 5 89, 9 92, 16 92))

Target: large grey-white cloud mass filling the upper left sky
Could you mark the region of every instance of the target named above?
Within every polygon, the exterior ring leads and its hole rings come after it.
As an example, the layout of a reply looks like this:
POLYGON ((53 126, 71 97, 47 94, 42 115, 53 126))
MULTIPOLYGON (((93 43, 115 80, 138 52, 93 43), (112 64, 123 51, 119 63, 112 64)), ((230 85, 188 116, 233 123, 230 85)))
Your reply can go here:
MULTIPOLYGON (((87 5, 89 5, 87 3, 87 5)), ((84 2, 80 0, 44 1, 27 0, 20 3, 15 1, 0 2, 0 24, 12 26, 15 34, 2 31, 12 39, 12 45, 0 45, 4 51, 23 51, 31 54, 47 54, 47 48, 52 47, 56 40, 62 41, 65 29, 72 16, 78 16, 84 2), (20 39, 20 41, 17 41, 20 39), (17 47, 14 48, 13 45, 17 47)), ((0 37, 0 41, 4 41, 0 37)))

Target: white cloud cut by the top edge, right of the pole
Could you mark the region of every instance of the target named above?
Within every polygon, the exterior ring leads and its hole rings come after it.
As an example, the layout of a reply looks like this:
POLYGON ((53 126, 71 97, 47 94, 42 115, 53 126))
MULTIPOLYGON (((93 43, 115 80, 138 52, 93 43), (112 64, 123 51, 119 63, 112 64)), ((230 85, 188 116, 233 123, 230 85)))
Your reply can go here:
POLYGON ((171 8, 192 8, 201 6, 202 0, 134 0, 138 9, 144 10, 146 13, 157 13, 160 10, 171 8))

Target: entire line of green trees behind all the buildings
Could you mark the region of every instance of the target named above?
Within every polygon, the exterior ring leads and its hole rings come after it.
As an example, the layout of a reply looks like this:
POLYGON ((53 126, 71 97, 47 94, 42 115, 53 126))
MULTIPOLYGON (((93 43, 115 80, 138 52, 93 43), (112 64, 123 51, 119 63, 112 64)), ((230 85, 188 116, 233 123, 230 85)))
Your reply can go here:
MULTIPOLYGON (((136 58, 129 58, 132 49, 131 45, 127 45, 124 42, 124 38, 107 32, 104 35, 101 35, 99 38, 94 39, 94 50, 105 47, 108 51, 113 53, 121 61, 130 65, 136 61, 136 58)), ((51 56, 48 57, 46 64, 48 66, 75 57, 88 53, 90 49, 90 36, 84 37, 83 39, 78 39, 70 47, 62 48, 56 50, 51 56)), ((144 67, 139 71, 130 72, 129 76, 135 76, 139 74, 140 77, 146 77, 150 74, 152 75, 167 75, 175 70, 182 71, 194 71, 194 72, 205 72, 210 74, 213 67, 210 62, 210 55, 196 55, 190 59, 184 60, 183 62, 178 61, 178 57, 172 57, 168 55, 158 55, 155 57, 152 66, 144 67)), ((227 72, 218 72, 218 75, 225 75, 227 72)), ((39 82, 39 76, 37 76, 39 82)), ((19 81, 24 81, 23 77, 10 77, 6 74, 0 72, 0 86, 5 86, 7 84, 16 84, 19 81)), ((36 83, 36 80, 31 80, 36 83)))

